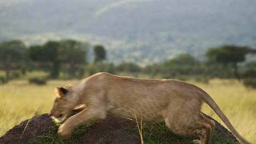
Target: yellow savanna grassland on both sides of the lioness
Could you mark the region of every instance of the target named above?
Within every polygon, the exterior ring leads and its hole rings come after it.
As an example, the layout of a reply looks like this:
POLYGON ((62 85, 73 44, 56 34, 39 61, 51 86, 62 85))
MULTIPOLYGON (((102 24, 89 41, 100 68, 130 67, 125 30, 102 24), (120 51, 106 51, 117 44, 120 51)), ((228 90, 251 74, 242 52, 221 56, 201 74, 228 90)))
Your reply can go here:
MULTIPOLYGON (((144 77, 144 76, 143 76, 144 77)), ((45 86, 31 85, 27 80, 13 80, 0 86, 0 136, 34 115, 48 113, 54 99, 54 88, 76 80, 51 80, 45 86)), ((213 79, 209 83, 188 81, 201 87, 217 102, 238 133, 256 143, 256 90, 245 88, 236 80, 213 79)), ((223 122, 208 107, 203 112, 223 122)), ((224 125, 224 124, 223 124, 224 125)))

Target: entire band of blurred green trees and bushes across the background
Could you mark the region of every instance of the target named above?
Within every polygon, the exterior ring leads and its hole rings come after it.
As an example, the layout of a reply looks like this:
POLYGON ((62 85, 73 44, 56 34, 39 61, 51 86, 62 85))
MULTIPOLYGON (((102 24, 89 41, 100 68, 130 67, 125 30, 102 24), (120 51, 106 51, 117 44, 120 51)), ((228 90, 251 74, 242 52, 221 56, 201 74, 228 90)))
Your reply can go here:
POLYGON ((189 53, 182 53, 168 61, 149 64, 145 67, 140 67, 134 62, 115 65, 104 61, 107 58, 107 52, 103 45, 94 46, 94 62, 89 63, 88 49, 88 43, 71 39, 50 40, 43 45, 28 47, 20 40, 4 41, 0 43, 0 69, 5 71, 7 79, 10 79, 11 70, 20 70, 24 75, 26 71, 44 70, 49 73, 51 79, 59 78, 60 73, 66 74, 68 79, 73 79, 100 71, 113 74, 122 71, 142 73, 152 78, 161 74, 162 78, 171 79, 182 76, 241 79, 256 75, 256 62, 245 65, 249 69, 247 71, 238 69, 238 63, 244 62, 249 53, 256 53, 255 49, 248 46, 212 47, 205 52, 206 61, 199 61, 189 53))

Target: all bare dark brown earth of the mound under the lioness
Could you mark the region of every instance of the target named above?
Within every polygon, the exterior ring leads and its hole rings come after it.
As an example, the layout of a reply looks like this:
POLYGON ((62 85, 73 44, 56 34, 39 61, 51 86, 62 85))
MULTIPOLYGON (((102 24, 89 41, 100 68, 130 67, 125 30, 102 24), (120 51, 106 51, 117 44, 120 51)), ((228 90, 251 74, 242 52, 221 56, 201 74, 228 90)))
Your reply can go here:
MULTIPOLYGON (((211 118, 207 115, 205 116, 211 118)), ((152 124, 147 125, 150 126, 152 124)), ((126 127, 136 128, 136 122, 109 115, 103 122, 96 123, 90 129, 84 131, 82 136, 79 136, 78 143, 141 143, 137 131, 125 130, 124 128, 126 127)), ((222 137, 228 137, 231 140, 237 141, 236 138, 218 122, 216 122, 215 130, 220 139, 222 139, 222 137)), ((56 132, 57 127, 50 116, 43 114, 22 121, 19 125, 7 131, 5 135, 0 137, 0 143, 37 143, 38 140, 42 139, 43 135, 56 135, 56 132)))

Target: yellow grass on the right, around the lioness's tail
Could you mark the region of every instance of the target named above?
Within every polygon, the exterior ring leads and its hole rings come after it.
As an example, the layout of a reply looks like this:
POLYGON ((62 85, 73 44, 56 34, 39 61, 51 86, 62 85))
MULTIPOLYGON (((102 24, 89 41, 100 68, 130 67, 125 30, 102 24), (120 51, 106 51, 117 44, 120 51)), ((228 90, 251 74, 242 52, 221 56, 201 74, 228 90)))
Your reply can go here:
MULTIPOLYGON (((192 82, 193 83, 193 82, 192 82)), ((236 80, 211 80, 209 85, 196 83, 219 105, 231 124, 245 139, 256 143, 256 90, 245 88, 236 80)), ((206 104, 203 112, 226 127, 206 104)))

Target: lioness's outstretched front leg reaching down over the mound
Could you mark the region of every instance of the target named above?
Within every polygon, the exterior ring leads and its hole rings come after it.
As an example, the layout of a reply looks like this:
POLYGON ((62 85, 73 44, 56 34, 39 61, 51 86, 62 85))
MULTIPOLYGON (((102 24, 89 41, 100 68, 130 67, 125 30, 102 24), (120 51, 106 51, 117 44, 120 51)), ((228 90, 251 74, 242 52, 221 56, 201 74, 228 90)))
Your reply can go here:
POLYGON ((99 109, 85 109, 76 115, 69 117, 65 123, 60 125, 58 135, 61 139, 69 139, 72 131, 83 124, 102 121, 106 118, 106 112, 99 109))

